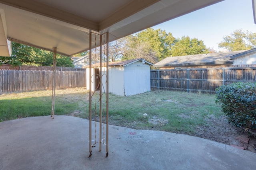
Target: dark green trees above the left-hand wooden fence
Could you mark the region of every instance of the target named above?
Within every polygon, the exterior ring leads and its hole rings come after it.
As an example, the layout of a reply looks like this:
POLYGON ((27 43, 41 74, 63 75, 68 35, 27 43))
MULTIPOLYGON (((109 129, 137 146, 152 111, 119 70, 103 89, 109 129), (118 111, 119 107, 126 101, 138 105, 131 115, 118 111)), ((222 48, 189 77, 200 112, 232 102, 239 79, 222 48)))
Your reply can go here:
MULTIPOLYGON (((70 57, 57 55, 57 66, 74 67, 70 57)), ((14 66, 36 65, 36 66, 52 66, 53 53, 28 45, 12 42, 11 57, 0 57, 1 64, 11 64, 14 66)))

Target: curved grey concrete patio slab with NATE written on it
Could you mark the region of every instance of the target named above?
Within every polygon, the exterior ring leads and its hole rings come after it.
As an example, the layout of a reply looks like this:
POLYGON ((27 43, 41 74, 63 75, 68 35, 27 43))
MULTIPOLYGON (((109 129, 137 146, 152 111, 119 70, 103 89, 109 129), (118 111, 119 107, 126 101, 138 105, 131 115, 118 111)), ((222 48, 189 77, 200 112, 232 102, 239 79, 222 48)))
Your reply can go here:
MULTIPOLYGON (((95 125, 93 123, 93 125, 95 125)), ((97 126, 98 123, 96 124, 97 126)), ((94 138, 95 127, 93 128, 94 138)), ((256 154, 207 139, 109 126, 109 156, 89 156, 89 121, 56 115, 0 122, 1 170, 241 170, 256 154)), ((98 139, 97 139, 98 140, 98 139)))

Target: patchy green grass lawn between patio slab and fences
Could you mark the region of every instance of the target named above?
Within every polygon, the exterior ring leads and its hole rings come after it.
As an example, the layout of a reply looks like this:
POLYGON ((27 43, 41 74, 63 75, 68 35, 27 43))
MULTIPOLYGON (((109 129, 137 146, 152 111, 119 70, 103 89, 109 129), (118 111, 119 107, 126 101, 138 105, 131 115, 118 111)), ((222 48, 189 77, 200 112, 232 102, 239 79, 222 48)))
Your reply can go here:
MULTIPOLYGON (((88 95, 85 88, 56 90, 55 115, 88 119, 88 95)), ((1 94, 0 121, 50 115, 51 104, 51 90, 1 94)), ((109 124, 134 129, 193 134, 198 126, 210 126, 206 119, 222 115, 212 94, 152 91, 126 97, 109 95, 109 124)))

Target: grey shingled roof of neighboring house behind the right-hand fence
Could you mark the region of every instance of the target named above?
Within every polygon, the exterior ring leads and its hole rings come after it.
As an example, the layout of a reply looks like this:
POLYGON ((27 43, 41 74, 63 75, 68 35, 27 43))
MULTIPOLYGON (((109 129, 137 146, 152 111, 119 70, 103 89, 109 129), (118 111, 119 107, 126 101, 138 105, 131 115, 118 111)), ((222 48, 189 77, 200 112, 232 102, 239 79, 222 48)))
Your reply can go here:
POLYGON ((205 66, 233 64, 234 59, 256 52, 256 49, 230 51, 225 53, 208 53, 198 55, 185 55, 176 57, 167 57, 154 64, 154 67, 178 67, 178 66, 205 66))

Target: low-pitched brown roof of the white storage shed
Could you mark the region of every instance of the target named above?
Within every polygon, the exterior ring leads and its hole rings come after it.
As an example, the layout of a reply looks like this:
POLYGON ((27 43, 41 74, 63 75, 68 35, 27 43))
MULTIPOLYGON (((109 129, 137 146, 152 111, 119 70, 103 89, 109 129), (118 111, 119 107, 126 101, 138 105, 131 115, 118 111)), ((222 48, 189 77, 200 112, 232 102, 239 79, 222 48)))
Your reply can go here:
MULTIPOLYGON (((127 66, 130 65, 132 63, 135 63, 137 61, 141 61, 141 62, 145 62, 145 64, 148 65, 154 65, 153 63, 150 63, 144 59, 131 59, 131 60, 126 60, 126 61, 115 61, 115 62, 109 62, 108 66, 127 66)), ((102 62, 102 66, 106 66, 106 62, 102 62)), ((83 68, 89 68, 90 66, 84 66, 83 68)), ((92 67, 100 67, 100 63, 96 63, 96 64, 92 64, 92 67)))

